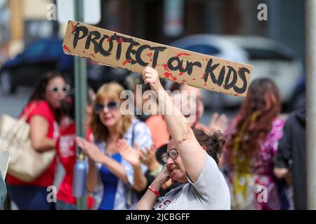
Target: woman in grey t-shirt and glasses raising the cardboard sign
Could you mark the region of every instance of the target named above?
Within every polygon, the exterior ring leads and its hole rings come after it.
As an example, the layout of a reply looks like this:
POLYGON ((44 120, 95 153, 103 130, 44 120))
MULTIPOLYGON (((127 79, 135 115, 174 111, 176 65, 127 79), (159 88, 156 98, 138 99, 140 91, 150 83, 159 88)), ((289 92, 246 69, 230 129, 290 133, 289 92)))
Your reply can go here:
POLYGON ((163 155, 166 166, 136 209, 230 209, 228 185, 217 165, 225 144, 223 135, 215 132, 209 136, 203 130, 192 130, 160 84, 157 71, 147 66, 142 75, 157 95, 159 106, 172 111, 164 114, 171 140, 163 155), (183 184, 155 203, 160 188, 169 179, 183 184))

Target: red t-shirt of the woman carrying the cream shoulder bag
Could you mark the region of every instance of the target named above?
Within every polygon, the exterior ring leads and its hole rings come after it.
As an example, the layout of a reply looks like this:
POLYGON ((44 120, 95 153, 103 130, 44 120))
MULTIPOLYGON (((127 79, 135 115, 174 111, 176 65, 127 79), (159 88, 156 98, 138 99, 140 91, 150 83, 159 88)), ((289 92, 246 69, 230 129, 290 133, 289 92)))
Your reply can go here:
MULTIPOLYGON (((59 137, 58 123, 55 120, 55 115, 51 110, 51 107, 49 106, 48 102, 44 100, 39 102, 30 102, 25 107, 25 110, 22 112, 21 116, 28 112, 30 106, 32 106, 33 104, 37 104, 37 106, 35 106, 31 113, 29 113, 29 116, 26 120, 27 123, 29 123, 29 120, 31 120, 31 118, 35 115, 42 116, 48 122, 48 132, 46 137, 48 137, 49 139, 57 139, 59 137)), ((41 174, 41 176, 39 176, 39 178, 30 183, 21 181, 20 179, 17 179, 14 176, 11 176, 10 174, 6 176, 6 182, 12 185, 22 186, 52 186, 54 181, 55 167, 56 159, 53 160, 51 165, 46 169, 46 171, 43 174, 41 174)))

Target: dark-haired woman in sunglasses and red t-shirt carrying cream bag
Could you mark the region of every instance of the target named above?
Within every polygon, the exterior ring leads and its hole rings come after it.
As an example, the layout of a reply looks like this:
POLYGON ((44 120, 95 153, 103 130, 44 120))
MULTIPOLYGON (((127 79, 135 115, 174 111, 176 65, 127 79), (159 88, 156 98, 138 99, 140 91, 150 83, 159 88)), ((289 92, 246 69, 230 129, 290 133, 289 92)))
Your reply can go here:
MULTIPOLYGON (((30 138, 36 151, 55 150, 56 139, 59 137, 62 114, 60 106, 66 97, 68 85, 60 73, 48 72, 35 87, 28 104, 21 116, 29 113, 27 123, 30 125, 30 138)), ((53 209, 48 203, 47 187, 53 185, 56 161, 53 160, 46 171, 31 183, 25 183, 8 174, 8 195, 18 209, 53 209)))

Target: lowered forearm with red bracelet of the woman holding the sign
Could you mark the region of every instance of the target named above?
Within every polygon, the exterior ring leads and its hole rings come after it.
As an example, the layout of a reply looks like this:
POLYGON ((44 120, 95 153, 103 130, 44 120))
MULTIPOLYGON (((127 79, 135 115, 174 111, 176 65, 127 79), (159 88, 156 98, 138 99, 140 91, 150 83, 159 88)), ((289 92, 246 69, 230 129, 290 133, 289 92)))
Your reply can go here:
MULTIPOLYGON (((157 190, 159 192, 160 188, 162 187, 162 184, 155 179, 152 184, 152 188, 157 190)), ((138 204, 136 205, 136 210, 151 210, 154 207, 154 204, 157 201, 157 195, 155 195, 152 190, 148 189, 145 193, 145 195, 140 199, 138 204)))

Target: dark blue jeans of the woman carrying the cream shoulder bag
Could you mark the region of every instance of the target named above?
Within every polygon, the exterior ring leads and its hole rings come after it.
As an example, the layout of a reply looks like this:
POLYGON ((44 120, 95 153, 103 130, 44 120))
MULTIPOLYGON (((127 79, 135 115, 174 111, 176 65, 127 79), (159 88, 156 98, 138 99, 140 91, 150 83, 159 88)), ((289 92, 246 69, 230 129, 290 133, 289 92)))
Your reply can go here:
POLYGON ((15 186, 8 184, 8 195, 20 210, 53 210, 54 202, 48 202, 46 187, 15 186))

